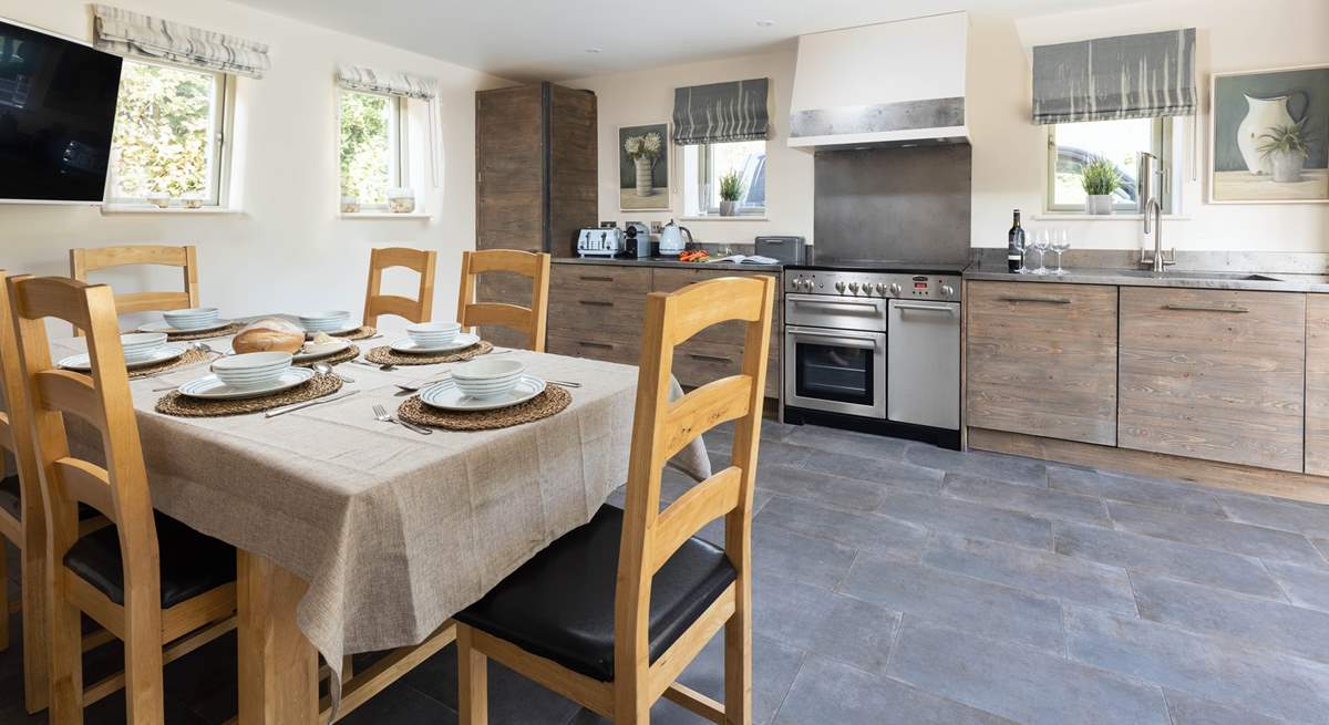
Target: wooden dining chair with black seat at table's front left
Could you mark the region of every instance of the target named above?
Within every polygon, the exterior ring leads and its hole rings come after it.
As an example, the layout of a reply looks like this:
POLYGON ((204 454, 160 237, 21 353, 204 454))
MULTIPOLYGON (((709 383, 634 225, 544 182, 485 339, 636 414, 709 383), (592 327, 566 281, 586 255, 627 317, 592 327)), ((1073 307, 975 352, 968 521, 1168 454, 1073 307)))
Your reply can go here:
POLYGON ((163 664, 235 627, 235 550, 153 511, 110 287, 19 276, 8 293, 41 470, 51 722, 125 688, 128 721, 157 725, 163 664), (90 374, 52 365, 47 317, 86 333, 90 374), (70 454, 64 416, 100 433, 105 466, 70 454), (78 505, 114 526, 80 535, 78 505), (86 689, 81 615, 125 643, 125 671, 86 689))

